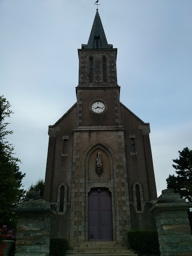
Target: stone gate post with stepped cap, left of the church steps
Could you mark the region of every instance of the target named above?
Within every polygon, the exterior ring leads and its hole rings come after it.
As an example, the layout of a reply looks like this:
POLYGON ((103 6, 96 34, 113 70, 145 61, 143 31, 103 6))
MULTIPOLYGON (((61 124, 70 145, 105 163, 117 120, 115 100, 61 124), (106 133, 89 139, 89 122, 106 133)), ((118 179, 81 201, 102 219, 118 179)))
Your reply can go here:
POLYGON ((48 256, 50 215, 53 210, 37 191, 26 193, 17 214, 16 256, 48 256))

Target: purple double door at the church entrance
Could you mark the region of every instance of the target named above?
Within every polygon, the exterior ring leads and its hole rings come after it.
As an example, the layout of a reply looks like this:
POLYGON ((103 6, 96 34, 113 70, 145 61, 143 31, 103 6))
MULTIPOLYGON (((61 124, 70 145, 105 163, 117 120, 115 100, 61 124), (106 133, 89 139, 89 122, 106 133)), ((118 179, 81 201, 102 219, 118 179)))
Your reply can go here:
POLYGON ((112 203, 107 188, 93 188, 88 193, 88 241, 111 241, 112 203))

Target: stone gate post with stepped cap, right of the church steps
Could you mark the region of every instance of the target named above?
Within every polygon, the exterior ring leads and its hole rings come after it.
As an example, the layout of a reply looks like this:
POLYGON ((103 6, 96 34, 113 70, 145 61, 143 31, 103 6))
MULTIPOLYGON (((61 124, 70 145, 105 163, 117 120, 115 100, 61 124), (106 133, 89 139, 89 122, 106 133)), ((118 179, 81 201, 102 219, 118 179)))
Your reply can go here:
POLYGON ((156 214, 160 256, 192 256, 192 235, 187 209, 192 203, 173 189, 164 189, 150 212, 156 214))

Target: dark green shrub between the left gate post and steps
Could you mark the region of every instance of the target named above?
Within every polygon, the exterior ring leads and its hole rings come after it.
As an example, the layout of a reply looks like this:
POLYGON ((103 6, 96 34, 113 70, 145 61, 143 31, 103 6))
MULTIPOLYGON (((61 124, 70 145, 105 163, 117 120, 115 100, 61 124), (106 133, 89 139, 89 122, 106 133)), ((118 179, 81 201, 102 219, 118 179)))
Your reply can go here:
POLYGON ((51 238, 49 245, 49 256, 64 256, 67 249, 67 240, 62 238, 51 238))

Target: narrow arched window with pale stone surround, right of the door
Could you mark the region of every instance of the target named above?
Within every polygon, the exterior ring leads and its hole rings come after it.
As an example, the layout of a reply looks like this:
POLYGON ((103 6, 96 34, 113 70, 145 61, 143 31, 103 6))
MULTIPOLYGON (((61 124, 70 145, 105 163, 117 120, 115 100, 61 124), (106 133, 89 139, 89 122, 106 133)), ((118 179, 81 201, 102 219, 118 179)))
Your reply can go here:
POLYGON ((136 210, 137 213, 142 213, 144 210, 144 200, 142 193, 142 185, 140 182, 135 181, 132 184, 132 192, 134 199, 134 209, 136 210))

